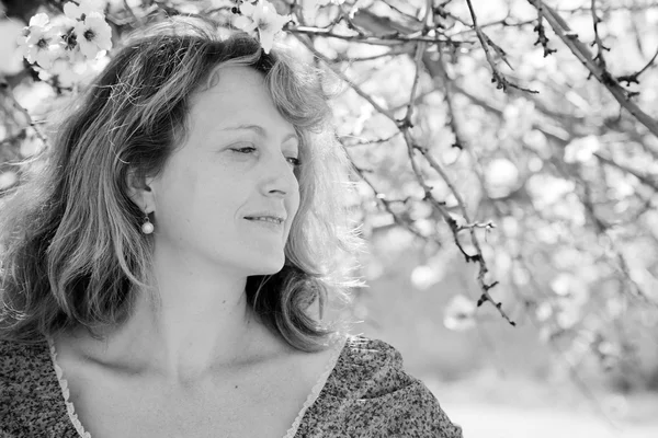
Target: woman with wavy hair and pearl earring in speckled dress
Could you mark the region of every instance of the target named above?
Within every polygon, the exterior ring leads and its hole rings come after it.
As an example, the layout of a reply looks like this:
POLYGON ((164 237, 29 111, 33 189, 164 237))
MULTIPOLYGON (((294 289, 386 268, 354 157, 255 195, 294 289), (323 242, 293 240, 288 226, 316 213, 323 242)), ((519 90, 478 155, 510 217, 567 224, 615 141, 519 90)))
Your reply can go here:
POLYGON ((2 205, 1 433, 461 436, 394 347, 322 322, 361 241, 309 67, 172 19, 79 102, 2 205))

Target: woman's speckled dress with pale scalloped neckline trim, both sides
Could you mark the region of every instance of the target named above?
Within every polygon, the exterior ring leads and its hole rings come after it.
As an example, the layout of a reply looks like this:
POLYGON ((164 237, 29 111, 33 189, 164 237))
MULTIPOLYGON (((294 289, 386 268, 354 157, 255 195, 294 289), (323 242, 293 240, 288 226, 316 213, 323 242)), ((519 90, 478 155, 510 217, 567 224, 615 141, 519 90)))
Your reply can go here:
MULTIPOLYGON (((334 339, 334 353, 284 438, 461 438, 400 353, 360 335, 334 339)), ((0 437, 91 438, 68 401, 67 381, 49 338, 0 341, 0 437)))

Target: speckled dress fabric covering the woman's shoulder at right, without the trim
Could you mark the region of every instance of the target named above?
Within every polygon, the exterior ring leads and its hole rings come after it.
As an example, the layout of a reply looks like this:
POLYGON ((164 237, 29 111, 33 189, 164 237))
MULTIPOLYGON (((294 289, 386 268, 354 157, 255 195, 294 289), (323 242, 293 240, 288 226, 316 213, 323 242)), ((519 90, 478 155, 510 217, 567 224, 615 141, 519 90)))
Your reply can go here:
POLYGON ((338 362, 317 418, 302 436, 462 438, 439 401, 402 367, 400 353, 379 339, 352 339, 338 362), (324 434, 320 434, 322 431, 324 434))

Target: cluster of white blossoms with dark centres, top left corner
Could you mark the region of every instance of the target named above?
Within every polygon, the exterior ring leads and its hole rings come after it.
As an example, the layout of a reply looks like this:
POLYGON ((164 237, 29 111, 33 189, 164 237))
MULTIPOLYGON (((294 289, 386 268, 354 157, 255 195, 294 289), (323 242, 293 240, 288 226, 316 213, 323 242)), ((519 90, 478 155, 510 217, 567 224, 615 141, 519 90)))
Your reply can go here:
POLYGON ((19 49, 31 64, 50 69, 56 59, 78 62, 95 59, 112 48, 112 30, 105 22, 103 0, 78 0, 64 5, 53 21, 45 13, 30 20, 19 37, 19 49))

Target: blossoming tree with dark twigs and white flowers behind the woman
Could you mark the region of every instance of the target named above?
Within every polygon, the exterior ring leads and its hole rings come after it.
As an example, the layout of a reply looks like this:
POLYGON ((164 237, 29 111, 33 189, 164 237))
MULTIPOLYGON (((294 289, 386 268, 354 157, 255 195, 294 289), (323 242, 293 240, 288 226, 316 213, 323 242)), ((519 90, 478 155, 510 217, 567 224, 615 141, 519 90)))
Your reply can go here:
MULTIPOLYGON (((576 361, 658 379, 658 358, 638 353, 651 343, 629 335, 658 330, 658 5, 626 3, 11 2, 0 191, 20 182, 9 163, 47 147, 45 102, 77 93, 126 33, 212 16, 344 84, 334 116, 355 218, 374 255, 422 246, 410 280, 449 296, 445 326, 534 324, 576 361), (476 292, 441 291, 446 266, 476 292)), ((367 263, 370 280, 390 268, 367 263)))

